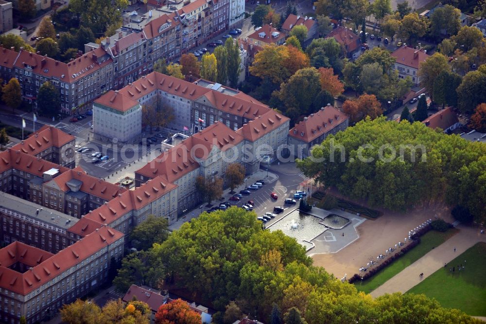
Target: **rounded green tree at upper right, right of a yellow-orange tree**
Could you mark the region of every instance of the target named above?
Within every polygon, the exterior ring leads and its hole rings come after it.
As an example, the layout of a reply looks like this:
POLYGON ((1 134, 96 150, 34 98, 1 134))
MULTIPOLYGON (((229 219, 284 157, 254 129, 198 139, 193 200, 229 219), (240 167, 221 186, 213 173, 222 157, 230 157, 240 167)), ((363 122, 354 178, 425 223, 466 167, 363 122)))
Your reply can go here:
POLYGON ((430 17, 430 31, 435 37, 455 35, 461 29, 461 11, 446 4, 436 8, 430 17))

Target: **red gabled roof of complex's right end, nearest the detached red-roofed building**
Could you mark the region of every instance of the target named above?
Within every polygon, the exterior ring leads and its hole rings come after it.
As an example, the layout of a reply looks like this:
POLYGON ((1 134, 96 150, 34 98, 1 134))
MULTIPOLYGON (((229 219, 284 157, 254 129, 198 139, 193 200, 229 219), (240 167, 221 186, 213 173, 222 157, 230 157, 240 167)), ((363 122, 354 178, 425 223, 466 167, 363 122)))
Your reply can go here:
POLYGON ((279 114, 277 111, 270 109, 261 116, 249 121, 248 124, 243 125, 236 133, 242 135, 245 140, 255 142, 289 120, 289 118, 279 114))

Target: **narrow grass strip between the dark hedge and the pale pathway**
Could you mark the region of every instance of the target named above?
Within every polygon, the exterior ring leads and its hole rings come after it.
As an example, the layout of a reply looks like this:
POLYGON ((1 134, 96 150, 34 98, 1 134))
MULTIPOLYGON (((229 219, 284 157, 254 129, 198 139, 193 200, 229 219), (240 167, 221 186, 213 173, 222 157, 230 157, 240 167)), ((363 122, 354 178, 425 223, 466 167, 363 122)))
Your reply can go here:
POLYGON ((407 268, 422 256, 430 252, 433 248, 444 243, 456 233, 456 229, 449 229, 447 232, 438 232, 434 230, 427 232, 420 237, 420 244, 418 244, 415 248, 402 255, 399 259, 395 260, 395 262, 388 265, 371 278, 364 281, 358 280, 354 283, 354 285, 358 290, 364 291, 365 293, 370 293, 398 274, 401 270, 407 268))

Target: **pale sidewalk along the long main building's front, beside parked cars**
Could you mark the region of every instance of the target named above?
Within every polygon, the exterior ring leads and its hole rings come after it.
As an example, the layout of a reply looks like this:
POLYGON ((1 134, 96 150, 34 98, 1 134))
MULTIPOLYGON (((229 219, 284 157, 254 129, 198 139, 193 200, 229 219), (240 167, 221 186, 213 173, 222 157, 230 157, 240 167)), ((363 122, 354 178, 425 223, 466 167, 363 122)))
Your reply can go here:
MULTIPOLYGON (((269 183, 273 183, 273 182, 277 181, 278 175, 276 175, 275 173, 272 173, 272 172, 259 170, 259 171, 255 172, 253 175, 247 177, 247 179, 248 180, 243 181, 243 184, 241 186, 239 186, 238 188, 235 188, 236 192, 239 192, 240 190, 243 190, 243 189, 246 188, 245 182, 248 185, 250 185, 250 184, 255 183, 257 180, 261 179, 261 180, 265 181, 265 185, 267 185, 269 183), (267 175, 267 173, 268 173, 268 175, 267 175)), ((214 200, 213 205, 218 205, 220 202, 228 200, 231 196, 233 196, 233 195, 229 193, 229 189, 226 189, 223 192, 223 197, 225 198, 225 200, 214 200)), ((183 223, 190 221, 192 218, 198 217, 202 212, 205 212, 205 211, 208 210, 208 208, 206 208, 205 206, 206 206, 206 202, 201 202, 200 207, 194 208, 193 210, 188 212, 186 215, 177 219, 177 221, 174 224, 169 225, 169 230, 171 230, 171 231, 177 230, 182 226, 183 223)))

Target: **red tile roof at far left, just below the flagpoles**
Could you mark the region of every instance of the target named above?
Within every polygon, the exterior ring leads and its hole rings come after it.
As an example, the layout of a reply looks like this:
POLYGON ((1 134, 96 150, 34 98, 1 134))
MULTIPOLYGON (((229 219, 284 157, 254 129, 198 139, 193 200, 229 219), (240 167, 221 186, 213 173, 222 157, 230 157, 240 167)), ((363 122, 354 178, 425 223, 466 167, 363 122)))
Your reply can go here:
POLYGON ((59 148, 74 140, 74 136, 66 134, 62 130, 44 125, 25 140, 12 146, 12 149, 36 155, 52 146, 59 148))

